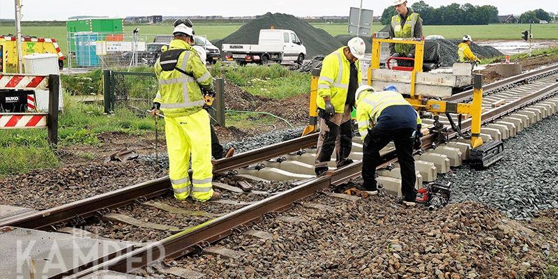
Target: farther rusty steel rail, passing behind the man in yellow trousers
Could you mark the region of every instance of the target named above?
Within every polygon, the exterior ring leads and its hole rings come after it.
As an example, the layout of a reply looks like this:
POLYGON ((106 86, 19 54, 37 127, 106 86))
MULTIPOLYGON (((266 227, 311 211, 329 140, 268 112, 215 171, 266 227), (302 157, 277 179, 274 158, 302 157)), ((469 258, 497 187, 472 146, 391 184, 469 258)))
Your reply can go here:
MULTIPOLYGON (((315 145, 317 134, 306 135, 287 142, 280 142, 271 146, 262 147, 253 151, 239 153, 239 155, 216 160, 214 163, 214 173, 226 172, 239 167, 246 167, 252 163, 262 160, 276 158, 287 153, 299 151, 315 145)), ((67 223, 74 219, 90 218, 98 213, 103 213, 109 209, 114 209, 127 204, 132 204, 138 199, 151 199, 160 195, 165 195, 170 189, 169 176, 152 181, 146 181, 134 186, 128 186, 109 193, 95 195, 87 199, 71 202, 52 209, 45 209, 16 216, 0 223, 0 227, 23 227, 27 229, 49 229, 58 223, 67 223)))

